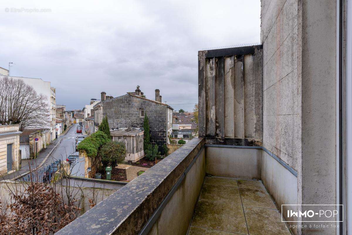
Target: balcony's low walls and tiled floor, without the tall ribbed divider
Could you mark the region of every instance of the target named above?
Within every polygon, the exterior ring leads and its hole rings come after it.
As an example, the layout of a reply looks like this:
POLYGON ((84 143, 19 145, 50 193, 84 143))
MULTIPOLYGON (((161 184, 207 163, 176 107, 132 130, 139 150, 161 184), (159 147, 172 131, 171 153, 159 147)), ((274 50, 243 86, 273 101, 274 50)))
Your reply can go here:
POLYGON ((56 234, 289 235, 296 181, 262 147, 193 138, 56 234))

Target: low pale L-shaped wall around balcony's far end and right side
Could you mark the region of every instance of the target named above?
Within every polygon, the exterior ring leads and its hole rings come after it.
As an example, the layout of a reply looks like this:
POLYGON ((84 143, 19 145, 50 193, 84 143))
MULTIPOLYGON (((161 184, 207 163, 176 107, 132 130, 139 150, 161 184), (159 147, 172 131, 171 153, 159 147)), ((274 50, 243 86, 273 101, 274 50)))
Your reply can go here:
MULTIPOLYGON (((293 174, 297 173, 266 151, 268 150, 263 147, 249 146, 206 147, 206 173, 220 177, 262 180, 281 212, 283 204, 298 204, 297 177, 293 174)), ((293 233, 297 234, 297 231, 293 230, 293 233)))

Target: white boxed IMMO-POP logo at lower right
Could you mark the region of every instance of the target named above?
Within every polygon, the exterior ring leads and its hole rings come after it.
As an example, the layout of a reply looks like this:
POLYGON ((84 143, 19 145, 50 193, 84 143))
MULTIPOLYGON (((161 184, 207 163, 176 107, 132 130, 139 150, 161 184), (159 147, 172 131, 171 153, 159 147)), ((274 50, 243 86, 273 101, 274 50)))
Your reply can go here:
POLYGON ((282 222, 343 222, 343 205, 281 205, 282 222))

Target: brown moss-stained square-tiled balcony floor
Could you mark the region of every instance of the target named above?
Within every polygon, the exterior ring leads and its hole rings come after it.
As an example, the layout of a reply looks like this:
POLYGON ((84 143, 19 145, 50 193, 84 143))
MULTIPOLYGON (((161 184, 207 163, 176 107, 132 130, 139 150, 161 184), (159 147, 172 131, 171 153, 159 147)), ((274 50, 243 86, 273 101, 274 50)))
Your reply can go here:
POLYGON ((206 177, 188 235, 290 235, 261 181, 206 177))

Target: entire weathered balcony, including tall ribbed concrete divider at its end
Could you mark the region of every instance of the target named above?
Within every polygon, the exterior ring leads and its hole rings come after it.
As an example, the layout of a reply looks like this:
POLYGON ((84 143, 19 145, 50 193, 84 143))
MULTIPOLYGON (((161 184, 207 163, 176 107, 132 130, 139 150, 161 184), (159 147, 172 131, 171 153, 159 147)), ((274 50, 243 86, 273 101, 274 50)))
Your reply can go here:
POLYGON ((203 138, 56 235, 297 234, 289 230, 296 222, 281 219, 281 205, 297 204, 297 172, 263 146, 262 46, 200 51, 199 59, 203 138))

